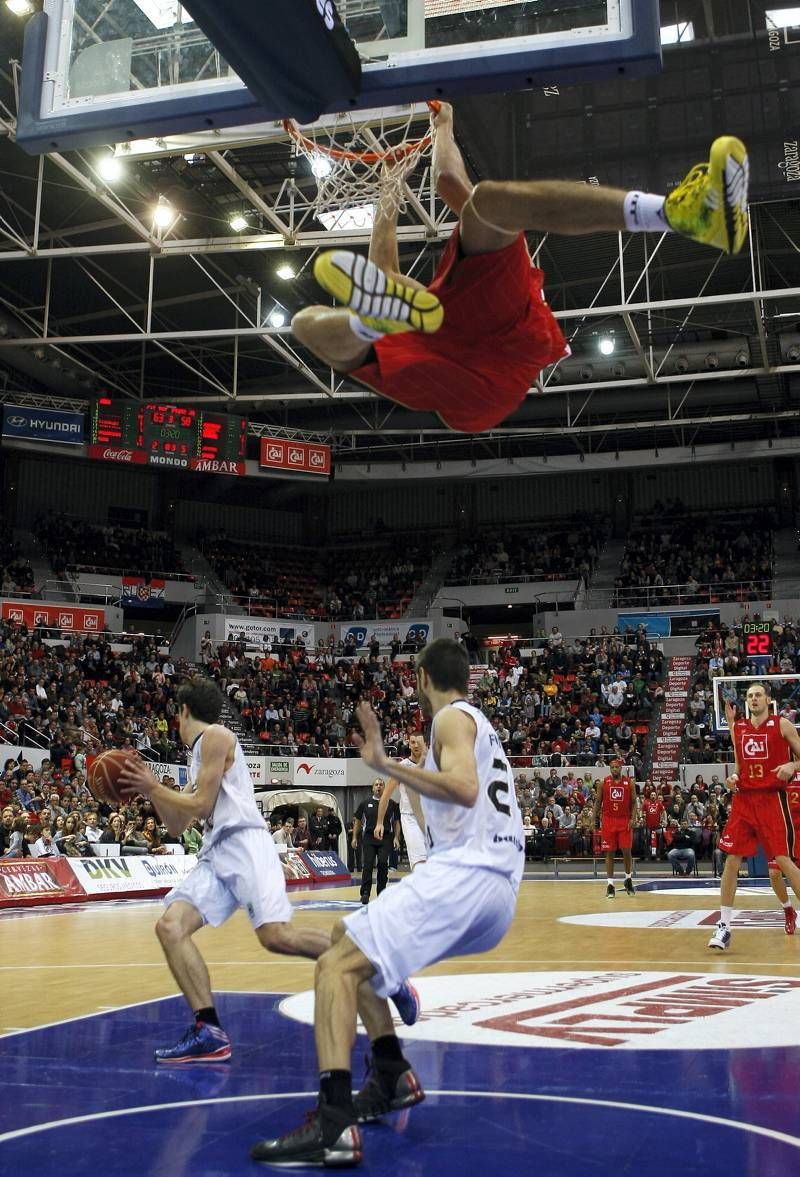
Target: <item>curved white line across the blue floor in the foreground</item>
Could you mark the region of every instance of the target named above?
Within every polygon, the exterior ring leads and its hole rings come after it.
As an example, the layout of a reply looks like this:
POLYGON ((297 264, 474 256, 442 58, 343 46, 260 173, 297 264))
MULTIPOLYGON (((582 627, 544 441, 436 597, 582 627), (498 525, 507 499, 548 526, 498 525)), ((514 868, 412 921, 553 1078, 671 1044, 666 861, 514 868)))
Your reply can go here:
MULTIPOLYGON (((531 1093, 522 1091, 426 1091, 428 1096, 442 1096, 455 1099, 519 1099, 531 1103, 564 1103, 576 1104, 581 1108, 608 1108, 615 1111, 644 1112, 648 1116, 672 1116, 676 1119, 689 1119, 700 1124, 714 1124, 719 1128, 733 1129, 738 1132, 749 1132, 752 1136, 764 1136, 768 1141, 778 1141, 789 1148, 800 1149, 800 1137, 788 1136, 786 1132, 778 1132, 771 1128, 762 1128, 760 1124, 744 1124, 738 1119, 726 1119, 722 1116, 708 1116, 704 1112, 684 1111, 679 1108, 655 1108, 651 1104, 622 1103, 618 1099, 588 1099, 579 1096, 549 1096, 545 1093, 531 1093)), ((174 1111, 179 1108, 199 1108, 208 1104, 232 1104, 232 1103, 255 1103, 268 1099, 314 1099, 315 1091, 271 1091, 265 1095, 249 1096, 218 1096, 208 1099, 181 1099, 176 1103, 144 1104, 138 1108, 120 1108, 115 1111, 91 1112, 86 1116, 71 1116, 67 1119, 53 1119, 41 1124, 31 1124, 28 1128, 16 1128, 11 1132, 0 1135, 0 1144, 7 1141, 16 1141, 25 1136, 35 1136, 38 1132, 48 1132, 54 1128, 72 1128, 75 1124, 92 1124, 100 1119, 114 1119, 122 1116, 136 1116, 144 1112, 174 1111)))

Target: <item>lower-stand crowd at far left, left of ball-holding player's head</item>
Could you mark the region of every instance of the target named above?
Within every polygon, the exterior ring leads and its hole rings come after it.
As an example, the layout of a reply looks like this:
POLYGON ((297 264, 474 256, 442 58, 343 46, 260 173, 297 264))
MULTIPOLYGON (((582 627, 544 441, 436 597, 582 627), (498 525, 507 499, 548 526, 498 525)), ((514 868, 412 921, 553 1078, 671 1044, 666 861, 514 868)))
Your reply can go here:
POLYGON ((182 671, 158 638, 54 638, 1 621, 0 737, 49 749, 54 773, 82 769, 87 752, 107 747, 175 763, 182 671))

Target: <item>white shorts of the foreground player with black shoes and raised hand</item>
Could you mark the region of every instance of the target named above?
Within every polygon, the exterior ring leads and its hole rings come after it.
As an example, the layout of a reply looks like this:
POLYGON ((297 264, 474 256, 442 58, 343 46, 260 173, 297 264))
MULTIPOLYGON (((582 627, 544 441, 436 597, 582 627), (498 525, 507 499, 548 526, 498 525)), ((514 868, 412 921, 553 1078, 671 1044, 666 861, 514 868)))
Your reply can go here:
POLYGON ((508 931, 516 906, 516 879, 479 866, 438 860, 345 917, 345 930, 375 967, 379 997, 446 957, 488 952, 508 931))

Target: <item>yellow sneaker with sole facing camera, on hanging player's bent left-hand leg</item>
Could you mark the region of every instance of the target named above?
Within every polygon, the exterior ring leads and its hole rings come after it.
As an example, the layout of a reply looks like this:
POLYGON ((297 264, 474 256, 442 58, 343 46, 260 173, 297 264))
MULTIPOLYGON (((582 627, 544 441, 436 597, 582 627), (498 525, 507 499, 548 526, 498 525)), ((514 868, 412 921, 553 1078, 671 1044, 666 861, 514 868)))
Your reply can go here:
POLYGON ((431 291, 416 290, 389 278, 382 270, 347 250, 328 250, 314 262, 320 286, 358 314, 373 331, 439 331, 445 310, 431 291))

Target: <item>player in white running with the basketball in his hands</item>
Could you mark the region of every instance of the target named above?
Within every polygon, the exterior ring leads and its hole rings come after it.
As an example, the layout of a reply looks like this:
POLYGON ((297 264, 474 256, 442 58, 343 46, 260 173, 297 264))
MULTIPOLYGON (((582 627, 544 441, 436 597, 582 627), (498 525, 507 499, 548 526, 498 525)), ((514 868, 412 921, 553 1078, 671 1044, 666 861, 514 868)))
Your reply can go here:
POLYGON ((327 931, 296 927, 284 870, 261 811, 239 740, 216 720, 222 696, 196 677, 178 691, 180 737, 192 749, 191 783, 182 792, 160 784, 142 760, 120 776, 131 794, 155 805, 171 834, 205 818, 196 866, 166 897, 155 925, 164 955, 194 1022, 175 1044, 155 1051, 156 1063, 219 1063, 231 1058, 231 1039, 219 1024, 208 969, 192 937, 218 927, 245 907, 265 949, 316 959, 331 944, 327 931))

